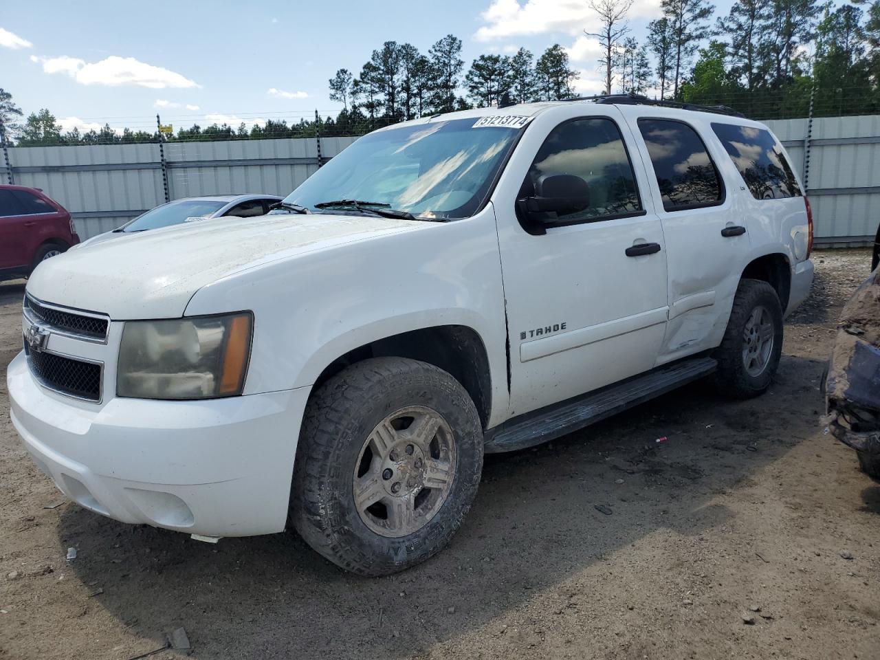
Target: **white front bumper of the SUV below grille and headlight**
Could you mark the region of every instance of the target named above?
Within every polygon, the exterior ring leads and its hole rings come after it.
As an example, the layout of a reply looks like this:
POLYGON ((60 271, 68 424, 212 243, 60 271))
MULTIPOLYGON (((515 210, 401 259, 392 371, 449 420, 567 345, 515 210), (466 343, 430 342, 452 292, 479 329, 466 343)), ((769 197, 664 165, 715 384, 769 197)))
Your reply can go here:
POLYGON ((86 509, 205 536, 283 531, 311 388, 90 407, 41 387, 23 353, 7 385, 34 462, 86 509))

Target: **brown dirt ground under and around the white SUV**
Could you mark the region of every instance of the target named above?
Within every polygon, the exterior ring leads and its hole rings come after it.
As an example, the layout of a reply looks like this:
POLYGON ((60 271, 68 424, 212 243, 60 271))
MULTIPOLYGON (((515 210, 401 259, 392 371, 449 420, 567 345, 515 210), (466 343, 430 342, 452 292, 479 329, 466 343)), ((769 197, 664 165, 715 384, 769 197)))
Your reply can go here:
MULTIPOLYGON (((192 649, 151 658, 880 658, 880 486, 818 424, 869 253, 814 260, 770 392, 698 383, 488 457, 451 546, 382 579, 293 534, 214 546, 63 502, 18 442, 4 378, 0 658, 126 659, 177 627, 192 649)), ((0 365, 23 290, 0 284, 0 365)))

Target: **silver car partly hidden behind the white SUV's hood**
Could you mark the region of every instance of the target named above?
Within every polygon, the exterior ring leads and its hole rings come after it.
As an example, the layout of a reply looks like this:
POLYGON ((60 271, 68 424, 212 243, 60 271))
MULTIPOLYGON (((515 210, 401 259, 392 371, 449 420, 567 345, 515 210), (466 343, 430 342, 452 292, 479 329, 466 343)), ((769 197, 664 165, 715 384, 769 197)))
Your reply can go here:
POLYGON ((142 213, 119 229, 89 238, 82 245, 94 245, 137 231, 149 231, 212 217, 265 216, 269 207, 281 200, 282 197, 276 194, 212 194, 204 197, 182 197, 142 213))

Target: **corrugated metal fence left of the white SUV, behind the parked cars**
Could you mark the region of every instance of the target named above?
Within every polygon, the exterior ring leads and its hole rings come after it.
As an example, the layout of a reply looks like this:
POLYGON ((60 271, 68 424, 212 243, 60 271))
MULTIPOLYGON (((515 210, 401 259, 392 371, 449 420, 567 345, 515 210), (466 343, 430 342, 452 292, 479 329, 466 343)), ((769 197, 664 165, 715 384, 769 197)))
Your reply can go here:
MULTIPOLYGON (((356 137, 321 138, 322 162, 356 137)), ((38 187, 73 216, 80 238, 110 231, 165 202, 157 143, 12 147, 15 182, 38 187)), ((315 139, 165 143, 172 199, 204 194, 286 195, 317 172, 315 139)), ((4 167, 0 172, 5 176, 4 167)))

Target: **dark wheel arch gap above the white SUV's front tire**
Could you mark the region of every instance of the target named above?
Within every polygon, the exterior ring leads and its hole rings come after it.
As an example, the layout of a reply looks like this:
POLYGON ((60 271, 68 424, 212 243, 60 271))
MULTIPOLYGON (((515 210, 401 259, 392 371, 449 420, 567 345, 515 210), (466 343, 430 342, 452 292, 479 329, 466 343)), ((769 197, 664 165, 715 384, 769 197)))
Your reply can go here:
POLYGON ((486 344, 470 326, 428 326, 379 337, 350 348, 320 370, 312 391, 352 364, 370 357, 405 357, 447 371, 471 396, 483 429, 492 410, 492 376, 486 344))

